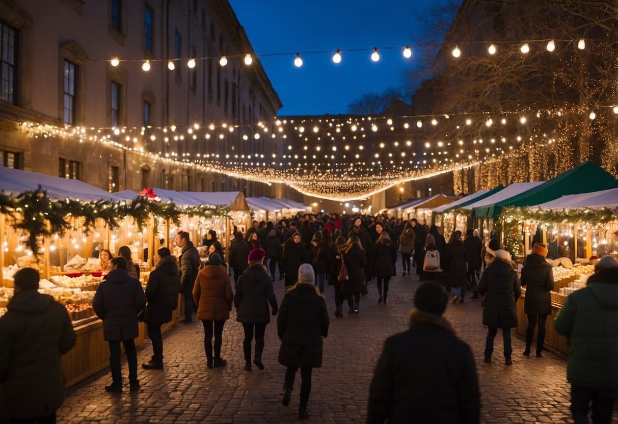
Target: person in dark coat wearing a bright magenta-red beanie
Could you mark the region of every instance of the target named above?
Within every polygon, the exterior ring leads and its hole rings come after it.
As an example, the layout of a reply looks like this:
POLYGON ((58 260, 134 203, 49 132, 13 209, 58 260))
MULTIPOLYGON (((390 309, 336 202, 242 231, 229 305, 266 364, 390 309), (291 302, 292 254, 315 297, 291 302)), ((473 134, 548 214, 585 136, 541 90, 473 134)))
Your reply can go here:
POLYGON ((247 260, 249 268, 238 279, 234 294, 236 321, 242 323, 242 328, 245 331, 245 340, 242 344, 245 353, 245 370, 251 371, 251 342, 254 333, 255 357, 253 363, 260 370, 263 370, 264 334, 266 324, 270 322, 268 303, 273 308, 273 315, 277 315, 277 298, 274 295, 273 282, 263 265, 264 250, 252 250, 247 260))

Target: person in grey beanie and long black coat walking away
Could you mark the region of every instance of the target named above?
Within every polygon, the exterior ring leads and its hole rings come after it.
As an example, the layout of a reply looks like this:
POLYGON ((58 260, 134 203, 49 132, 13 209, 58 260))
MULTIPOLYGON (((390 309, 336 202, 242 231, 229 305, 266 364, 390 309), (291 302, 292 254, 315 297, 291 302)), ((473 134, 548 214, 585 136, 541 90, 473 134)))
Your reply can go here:
POLYGON ((313 267, 298 268, 298 282, 290 287, 281 301, 277 316, 277 336, 281 340, 279 363, 287 367, 284 395, 281 401, 290 404, 296 371, 300 368, 300 404, 298 417, 308 418, 307 403, 311 392, 311 371, 322 366, 322 339, 328 336, 328 311, 324 295, 313 287, 313 267))

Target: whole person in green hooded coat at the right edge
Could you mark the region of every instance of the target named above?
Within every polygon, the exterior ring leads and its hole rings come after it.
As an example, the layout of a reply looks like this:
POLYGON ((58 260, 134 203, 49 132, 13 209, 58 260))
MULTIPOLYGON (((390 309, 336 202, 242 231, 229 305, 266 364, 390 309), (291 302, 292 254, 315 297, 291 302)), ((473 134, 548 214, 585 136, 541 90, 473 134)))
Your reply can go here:
POLYGON ((595 266, 587 287, 567 297, 554 320, 567 337, 571 383, 571 412, 575 424, 612 420, 618 397, 618 262, 604 257, 595 266))

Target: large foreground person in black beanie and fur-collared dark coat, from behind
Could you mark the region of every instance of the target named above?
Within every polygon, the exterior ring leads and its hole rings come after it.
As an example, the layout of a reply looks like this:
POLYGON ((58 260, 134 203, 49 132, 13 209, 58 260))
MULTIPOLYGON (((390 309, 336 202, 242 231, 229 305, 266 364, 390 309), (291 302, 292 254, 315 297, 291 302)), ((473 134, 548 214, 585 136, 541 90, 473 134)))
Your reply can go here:
POLYGON ((418 287, 410 328, 386 339, 369 391, 369 424, 478 424, 480 394, 472 350, 442 318, 448 296, 418 287))

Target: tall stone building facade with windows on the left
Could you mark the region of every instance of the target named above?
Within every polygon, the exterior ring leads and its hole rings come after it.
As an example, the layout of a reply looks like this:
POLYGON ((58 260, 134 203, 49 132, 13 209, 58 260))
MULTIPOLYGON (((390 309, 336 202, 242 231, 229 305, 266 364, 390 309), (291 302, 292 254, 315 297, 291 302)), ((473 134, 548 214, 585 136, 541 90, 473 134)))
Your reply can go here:
MULTIPOLYGON (((282 107, 227 0, 0 0, 0 25, 0 165, 112 192, 163 187, 302 198, 286 186, 182 163, 239 151, 240 129, 272 120, 282 107), (33 132, 30 123, 83 127, 85 137, 33 132), (210 137, 214 123, 240 127, 210 137), (188 135, 193 125, 199 137, 164 140, 164 129, 188 135), (100 142, 103 134, 113 143, 100 142)), ((266 155, 279 150, 276 143, 262 137, 242 149, 266 155)))

